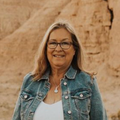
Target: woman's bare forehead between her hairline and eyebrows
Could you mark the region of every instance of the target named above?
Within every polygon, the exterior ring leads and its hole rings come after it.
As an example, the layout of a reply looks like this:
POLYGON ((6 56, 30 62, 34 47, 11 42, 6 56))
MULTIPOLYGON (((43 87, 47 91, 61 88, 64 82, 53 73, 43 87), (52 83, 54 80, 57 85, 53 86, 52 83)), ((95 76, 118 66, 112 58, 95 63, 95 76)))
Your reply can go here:
POLYGON ((50 33, 49 39, 64 39, 64 38, 71 38, 71 33, 68 32, 65 28, 58 28, 53 30, 50 33))

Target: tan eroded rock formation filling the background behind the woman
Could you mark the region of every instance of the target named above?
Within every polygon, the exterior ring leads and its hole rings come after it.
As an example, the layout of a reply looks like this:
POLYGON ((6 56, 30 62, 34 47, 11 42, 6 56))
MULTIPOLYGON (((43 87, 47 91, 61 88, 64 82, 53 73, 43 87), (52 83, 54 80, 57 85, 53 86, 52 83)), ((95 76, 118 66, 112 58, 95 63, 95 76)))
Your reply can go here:
POLYGON ((119 13, 119 0, 1 0, 0 119, 11 119, 23 76, 33 69, 45 31, 59 19, 67 19, 74 25, 84 47, 85 66, 98 73, 109 119, 117 114, 120 110, 119 13))

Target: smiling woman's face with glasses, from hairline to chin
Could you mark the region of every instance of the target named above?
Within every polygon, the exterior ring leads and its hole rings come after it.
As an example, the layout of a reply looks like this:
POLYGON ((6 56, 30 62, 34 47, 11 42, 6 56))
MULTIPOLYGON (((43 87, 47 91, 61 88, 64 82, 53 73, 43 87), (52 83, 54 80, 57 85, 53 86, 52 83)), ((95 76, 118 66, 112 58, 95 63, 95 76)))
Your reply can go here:
POLYGON ((52 68, 68 68, 70 66, 75 54, 74 46, 71 43, 73 43, 71 34, 66 29, 59 28, 51 32, 47 43, 47 58, 52 68), (56 43, 62 44, 60 46, 56 43), (55 45, 56 48, 53 48, 55 45))

